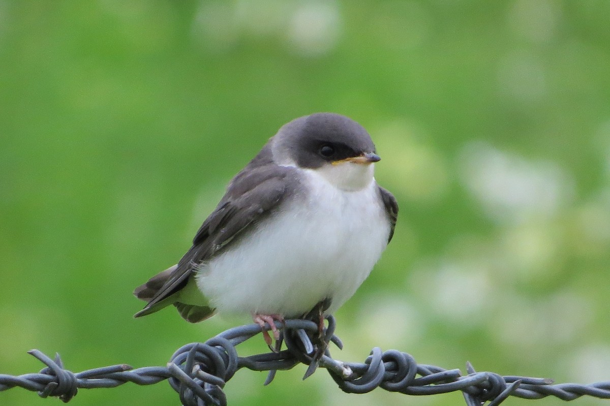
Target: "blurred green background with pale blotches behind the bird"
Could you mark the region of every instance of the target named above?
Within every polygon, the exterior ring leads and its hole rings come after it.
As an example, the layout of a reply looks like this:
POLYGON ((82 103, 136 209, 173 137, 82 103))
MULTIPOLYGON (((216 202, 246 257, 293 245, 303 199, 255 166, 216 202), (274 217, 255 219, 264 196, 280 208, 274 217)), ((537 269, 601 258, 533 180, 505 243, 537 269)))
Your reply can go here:
MULTIPOLYGON (((608 21, 599 0, 0 1, 0 373, 38 371, 32 348, 73 371, 165 365, 248 322, 134 320, 131 292, 181 257, 282 124, 330 111, 369 130, 401 207, 337 313, 336 358, 381 346, 446 368, 610 380, 608 21)), ((242 354, 265 351, 252 341, 242 354)), ((304 371, 266 387, 240 371, 229 404, 463 402, 348 395, 304 371)), ((73 404, 179 400, 127 384, 73 404)))

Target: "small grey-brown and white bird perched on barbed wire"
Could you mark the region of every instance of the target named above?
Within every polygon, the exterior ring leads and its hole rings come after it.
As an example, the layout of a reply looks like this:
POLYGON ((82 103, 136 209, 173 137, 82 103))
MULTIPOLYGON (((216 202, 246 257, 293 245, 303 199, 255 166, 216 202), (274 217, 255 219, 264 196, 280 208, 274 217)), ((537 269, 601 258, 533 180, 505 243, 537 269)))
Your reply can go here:
MULTIPOLYGON (((135 317, 174 305, 188 322, 276 321, 317 305, 320 323, 356 292, 392 240, 398 204, 378 185, 367 130, 336 113, 293 119, 229 182, 179 262, 137 287, 135 317)), ((320 327, 321 329, 322 327, 320 327)))

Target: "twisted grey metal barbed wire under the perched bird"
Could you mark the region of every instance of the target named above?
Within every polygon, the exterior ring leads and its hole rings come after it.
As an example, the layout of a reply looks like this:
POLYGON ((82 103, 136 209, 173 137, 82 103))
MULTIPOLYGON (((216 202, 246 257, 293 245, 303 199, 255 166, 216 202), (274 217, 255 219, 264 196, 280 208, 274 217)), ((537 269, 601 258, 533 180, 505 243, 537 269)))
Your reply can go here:
MULTIPOLYGON (((55 396, 68 402, 79 388, 114 388, 126 382, 153 385, 167 379, 184 406, 226 406, 224 385, 240 368, 269 371, 264 383, 268 385, 276 371, 304 363, 309 367, 303 379, 318 367, 325 368, 339 388, 347 393, 367 393, 378 387, 409 395, 462 391, 467 406, 497 406, 509 396, 523 399, 555 396, 564 401, 585 395, 610 399, 610 382, 552 385, 550 379, 476 372, 470 363, 467 364, 467 375, 463 376, 459 369, 418 364, 405 352, 382 352, 378 347, 373 348, 364 363, 334 360, 328 349, 329 343, 334 343, 339 349, 343 344, 334 335, 335 319, 332 316, 326 319, 328 327, 322 333, 318 324, 310 320, 278 323, 282 332, 275 351, 248 357, 239 357, 236 346, 262 329, 258 324, 234 327, 205 343, 182 346, 165 367, 133 369, 121 364, 74 373, 63 368, 59 354, 53 360, 38 350, 32 350, 29 354, 38 358, 46 368, 37 374, 0 374, 0 391, 19 386, 36 391, 41 397, 55 396), (281 350, 283 343, 285 349, 281 350)), ((270 330, 268 324, 265 329, 270 330)))

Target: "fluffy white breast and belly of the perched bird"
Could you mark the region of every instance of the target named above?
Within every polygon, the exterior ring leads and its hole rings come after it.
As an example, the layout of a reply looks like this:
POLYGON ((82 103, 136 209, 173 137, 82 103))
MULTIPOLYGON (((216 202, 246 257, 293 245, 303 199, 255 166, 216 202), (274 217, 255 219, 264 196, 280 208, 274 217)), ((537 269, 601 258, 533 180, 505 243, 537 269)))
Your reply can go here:
POLYGON ((386 248, 390 224, 373 179, 342 191, 307 171, 297 196, 198 273, 218 312, 300 316, 323 299, 333 313, 368 276, 386 248), (315 182, 312 182, 315 181, 315 182))

